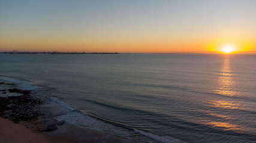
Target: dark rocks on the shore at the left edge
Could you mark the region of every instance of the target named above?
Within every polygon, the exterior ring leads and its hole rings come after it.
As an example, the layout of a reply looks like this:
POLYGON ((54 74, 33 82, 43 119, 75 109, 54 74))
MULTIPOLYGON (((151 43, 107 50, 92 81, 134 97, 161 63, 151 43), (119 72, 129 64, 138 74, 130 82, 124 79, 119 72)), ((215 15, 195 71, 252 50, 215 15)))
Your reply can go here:
MULTIPOLYGON (((3 83, 0 82, 0 84, 3 83)), ((56 130, 58 129, 57 126, 63 125, 64 121, 58 121, 51 117, 41 119, 44 113, 40 109, 40 105, 44 104, 44 100, 32 95, 33 91, 18 88, 1 91, 4 91, 2 94, 7 96, 0 97, 0 117, 9 119, 14 123, 22 123, 27 128, 40 132, 56 130), (8 96, 7 93, 16 93, 17 95, 8 96)))

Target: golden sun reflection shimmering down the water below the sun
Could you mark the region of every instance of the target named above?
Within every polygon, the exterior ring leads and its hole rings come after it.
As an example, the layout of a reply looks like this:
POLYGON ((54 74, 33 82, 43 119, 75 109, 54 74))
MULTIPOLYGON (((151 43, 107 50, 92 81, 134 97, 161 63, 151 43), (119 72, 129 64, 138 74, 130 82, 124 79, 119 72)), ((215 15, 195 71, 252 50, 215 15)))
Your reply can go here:
POLYGON ((233 109, 240 109, 240 104, 236 101, 233 101, 233 96, 236 96, 238 93, 234 90, 235 89, 235 82, 233 79, 233 73, 230 66, 230 57, 227 56, 225 58, 224 63, 222 64, 221 70, 219 71, 219 79, 218 79, 218 86, 215 89, 215 93, 218 95, 227 96, 221 98, 211 99, 207 102, 208 105, 211 107, 216 108, 218 114, 215 113, 213 110, 212 113, 209 113, 211 117, 210 120, 206 120, 204 124, 210 125, 213 128, 219 128, 222 130, 231 130, 233 132, 242 132, 242 128, 235 123, 233 123, 233 119, 230 117, 229 114, 225 113, 225 109, 233 110, 233 109), (223 108, 223 111, 219 112, 219 109, 223 108))

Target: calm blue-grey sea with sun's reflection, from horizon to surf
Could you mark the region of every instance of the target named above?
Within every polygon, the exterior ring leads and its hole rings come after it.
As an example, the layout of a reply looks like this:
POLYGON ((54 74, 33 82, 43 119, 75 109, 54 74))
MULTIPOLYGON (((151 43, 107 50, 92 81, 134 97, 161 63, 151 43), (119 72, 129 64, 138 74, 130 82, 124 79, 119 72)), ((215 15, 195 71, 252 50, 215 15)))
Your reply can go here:
POLYGON ((143 135, 256 142, 255 54, 0 54, 0 75, 143 135))

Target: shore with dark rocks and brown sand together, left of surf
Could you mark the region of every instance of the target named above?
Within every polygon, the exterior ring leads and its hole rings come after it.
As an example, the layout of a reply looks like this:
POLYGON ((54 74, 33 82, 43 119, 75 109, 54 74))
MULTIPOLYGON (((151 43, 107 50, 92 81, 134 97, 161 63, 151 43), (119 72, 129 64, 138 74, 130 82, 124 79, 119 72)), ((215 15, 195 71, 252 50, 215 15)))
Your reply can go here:
MULTIPOLYGON (((0 141, 4 142, 137 142, 112 133, 80 128, 56 120, 54 105, 34 90, 17 88, 17 83, 0 82, 0 141)), ((59 113, 57 113, 59 114, 59 113)))

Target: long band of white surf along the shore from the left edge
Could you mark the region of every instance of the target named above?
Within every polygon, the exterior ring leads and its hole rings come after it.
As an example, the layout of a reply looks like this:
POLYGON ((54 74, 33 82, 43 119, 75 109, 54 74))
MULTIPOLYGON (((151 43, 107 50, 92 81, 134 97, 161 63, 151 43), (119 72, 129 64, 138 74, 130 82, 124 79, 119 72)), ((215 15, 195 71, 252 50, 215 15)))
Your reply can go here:
MULTIPOLYGON (((40 93, 41 96, 44 92, 48 92, 47 87, 42 88, 43 86, 34 85, 33 83, 27 80, 16 80, 11 79, 10 77, 1 76, 0 82, 5 83, 14 83, 15 88, 23 90, 34 90, 37 91, 36 94, 40 93)), ((51 91, 49 91, 51 92, 51 91)), ((47 94, 51 95, 51 94, 47 94)), ((99 132, 111 133, 113 135, 121 136, 122 138, 134 139, 139 142, 164 142, 164 143, 177 143, 181 142, 178 139, 171 138, 170 136, 160 136, 154 133, 146 132, 144 130, 137 130, 132 127, 123 125, 122 123, 112 122, 110 120, 103 119, 101 117, 94 116, 93 114, 86 113, 86 111, 75 110, 72 105, 68 104, 59 98, 50 96, 49 100, 55 102, 52 104, 50 110, 55 110, 53 118, 56 120, 65 120, 66 123, 77 126, 79 128, 86 128, 91 130, 97 130, 99 132), (65 108, 65 110, 60 109, 60 107, 65 108), (64 113, 61 113, 61 111, 64 113), (58 114, 61 113, 61 114, 58 114)), ((47 109, 49 110, 49 109, 47 109)))

